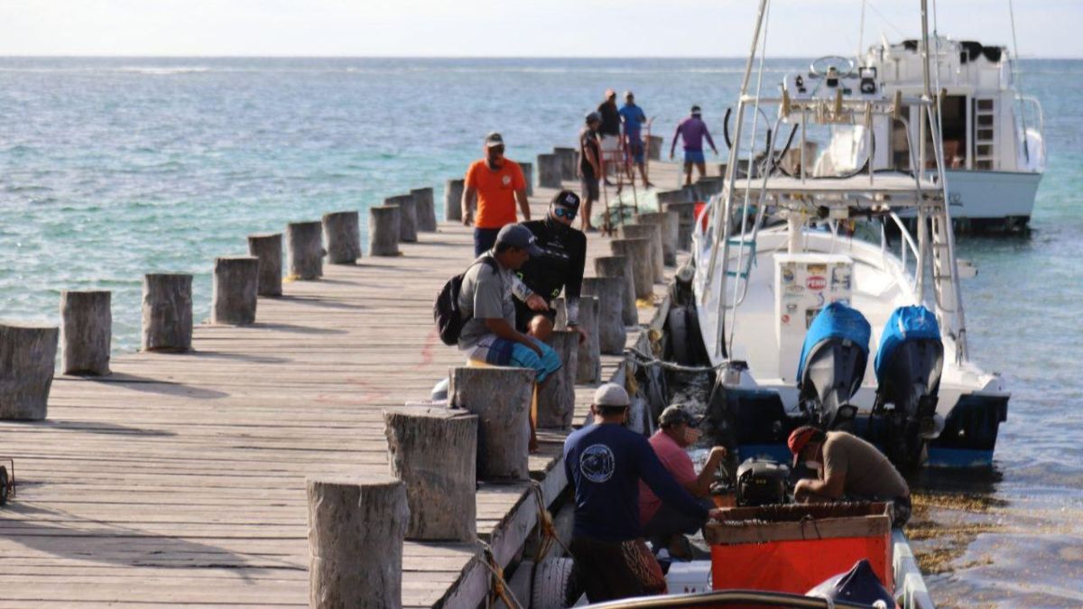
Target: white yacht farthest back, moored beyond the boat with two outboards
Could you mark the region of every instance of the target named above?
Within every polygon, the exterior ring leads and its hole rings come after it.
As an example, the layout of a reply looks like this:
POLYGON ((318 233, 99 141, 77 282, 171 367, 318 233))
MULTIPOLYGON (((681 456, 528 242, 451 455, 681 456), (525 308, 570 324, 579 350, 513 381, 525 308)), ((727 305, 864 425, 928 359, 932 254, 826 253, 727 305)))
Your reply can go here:
MULTIPOLYGON (((840 62, 839 74, 857 77, 858 87, 888 98, 896 92, 919 98, 925 87, 919 48, 917 40, 885 40, 869 49, 859 65, 840 62)), ((937 36, 929 43, 929 65, 932 92, 940 92, 943 180, 952 218, 976 230, 1025 229, 1045 170, 1041 104, 1021 94, 1016 63, 1004 47, 937 36)), ((918 112, 916 106, 901 108, 909 127, 890 117, 873 121, 875 170, 912 170, 908 142, 918 141, 918 112)), ((857 131, 831 142, 813 172, 866 158, 863 144, 856 145, 854 138, 864 139, 857 131)))

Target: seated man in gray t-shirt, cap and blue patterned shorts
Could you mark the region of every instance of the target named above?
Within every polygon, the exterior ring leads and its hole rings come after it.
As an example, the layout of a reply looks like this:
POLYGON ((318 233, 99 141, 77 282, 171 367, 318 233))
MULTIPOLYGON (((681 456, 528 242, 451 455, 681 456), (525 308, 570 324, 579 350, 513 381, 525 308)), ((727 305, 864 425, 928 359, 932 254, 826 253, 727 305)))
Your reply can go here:
POLYGON ((545 300, 526 291, 516 281, 518 271, 531 256, 542 255, 537 238, 521 224, 507 224, 496 236, 496 245, 467 270, 459 290, 462 325, 458 347, 470 360, 495 366, 532 368, 538 384, 560 370, 560 357, 548 345, 516 329, 519 297, 535 310, 548 308, 545 300), (482 260, 490 257, 494 265, 482 260), (495 267, 495 269, 493 268, 495 267))

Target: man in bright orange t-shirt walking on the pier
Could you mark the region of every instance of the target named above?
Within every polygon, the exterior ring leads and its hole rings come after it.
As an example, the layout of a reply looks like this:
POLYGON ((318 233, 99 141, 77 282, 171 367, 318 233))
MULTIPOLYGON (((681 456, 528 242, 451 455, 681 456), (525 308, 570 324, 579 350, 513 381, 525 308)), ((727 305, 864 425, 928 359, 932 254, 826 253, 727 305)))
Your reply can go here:
POLYGON ((517 203, 523 221, 531 219, 523 170, 518 163, 504 157, 504 138, 499 133, 485 137, 485 158, 470 164, 464 186, 462 224, 474 226, 474 257, 493 248, 496 234, 505 224, 518 221, 517 203))

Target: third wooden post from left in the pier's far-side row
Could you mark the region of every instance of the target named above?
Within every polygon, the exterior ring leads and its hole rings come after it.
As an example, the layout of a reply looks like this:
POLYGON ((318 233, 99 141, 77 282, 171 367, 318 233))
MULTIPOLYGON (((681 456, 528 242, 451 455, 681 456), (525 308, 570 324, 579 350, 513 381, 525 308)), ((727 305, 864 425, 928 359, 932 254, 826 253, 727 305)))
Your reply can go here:
POLYGON ((192 350, 192 275, 143 275, 143 350, 192 350))

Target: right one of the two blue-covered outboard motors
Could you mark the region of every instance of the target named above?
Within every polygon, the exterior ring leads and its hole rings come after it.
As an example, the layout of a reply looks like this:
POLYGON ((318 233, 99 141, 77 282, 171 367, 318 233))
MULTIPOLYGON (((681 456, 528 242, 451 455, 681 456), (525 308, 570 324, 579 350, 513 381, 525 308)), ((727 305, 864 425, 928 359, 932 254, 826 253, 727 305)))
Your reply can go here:
POLYGON ((901 469, 918 467, 926 442, 943 430, 943 417, 937 415, 943 361, 944 346, 932 311, 921 306, 896 309, 873 363, 878 387, 870 437, 901 469))

